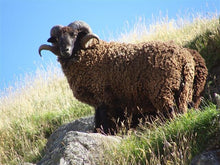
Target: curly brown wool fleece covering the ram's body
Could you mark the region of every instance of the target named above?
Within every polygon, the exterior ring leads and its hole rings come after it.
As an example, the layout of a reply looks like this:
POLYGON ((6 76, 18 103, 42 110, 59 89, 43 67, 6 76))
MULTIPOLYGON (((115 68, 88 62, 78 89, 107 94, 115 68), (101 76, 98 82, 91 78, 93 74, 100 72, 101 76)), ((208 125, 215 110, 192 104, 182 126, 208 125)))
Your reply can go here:
POLYGON ((173 43, 101 41, 74 56, 58 60, 74 96, 95 108, 186 112, 192 102, 196 63, 187 49, 173 43))

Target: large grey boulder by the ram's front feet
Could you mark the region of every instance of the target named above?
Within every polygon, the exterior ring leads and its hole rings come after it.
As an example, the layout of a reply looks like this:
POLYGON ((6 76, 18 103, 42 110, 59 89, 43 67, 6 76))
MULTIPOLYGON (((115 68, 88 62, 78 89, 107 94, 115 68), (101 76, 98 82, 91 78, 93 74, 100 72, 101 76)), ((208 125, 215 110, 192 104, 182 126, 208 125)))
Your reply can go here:
POLYGON ((76 120, 58 128, 48 139, 45 156, 37 165, 95 165, 106 149, 121 139, 91 133, 94 117, 76 120))

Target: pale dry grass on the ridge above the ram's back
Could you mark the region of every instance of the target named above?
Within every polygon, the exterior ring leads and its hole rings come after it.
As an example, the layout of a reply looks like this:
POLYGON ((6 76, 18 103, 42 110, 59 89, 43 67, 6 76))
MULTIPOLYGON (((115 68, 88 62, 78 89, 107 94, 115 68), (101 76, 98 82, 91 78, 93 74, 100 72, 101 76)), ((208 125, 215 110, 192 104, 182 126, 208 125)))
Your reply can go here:
MULTIPOLYGON (((120 42, 138 43, 146 41, 174 41, 186 45, 205 31, 214 31, 219 26, 217 15, 202 17, 199 14, 190 18, 169 19, 168 16, 148 25, 140 17, 133 28, 125 30, 119 37, 120 42)), ((129 26, 128 26, 129 27, 129 26)))

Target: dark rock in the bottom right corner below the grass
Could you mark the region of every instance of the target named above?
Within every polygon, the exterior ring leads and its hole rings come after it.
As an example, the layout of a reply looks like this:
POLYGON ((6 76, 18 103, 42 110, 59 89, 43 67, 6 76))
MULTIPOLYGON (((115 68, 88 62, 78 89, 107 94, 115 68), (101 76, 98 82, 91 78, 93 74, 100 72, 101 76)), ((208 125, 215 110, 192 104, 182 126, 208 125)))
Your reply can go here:
POLYGON ((220 149, 196 156, 190 165, 220 165, 220 149))

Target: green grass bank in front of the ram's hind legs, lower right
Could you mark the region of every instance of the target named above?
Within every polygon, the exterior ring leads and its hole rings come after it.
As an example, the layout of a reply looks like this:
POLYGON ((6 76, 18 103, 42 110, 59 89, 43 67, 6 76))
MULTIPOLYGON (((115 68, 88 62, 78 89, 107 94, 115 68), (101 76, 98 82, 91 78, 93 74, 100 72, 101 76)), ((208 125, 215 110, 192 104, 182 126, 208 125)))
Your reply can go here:
POLYGON ((220 143, 220 111, 211 105, 166 123, 160 120, 126 137, 101 164, 188 164, 193 156, 220 143), (210 142, 210 143, 208 143, 210 142))

